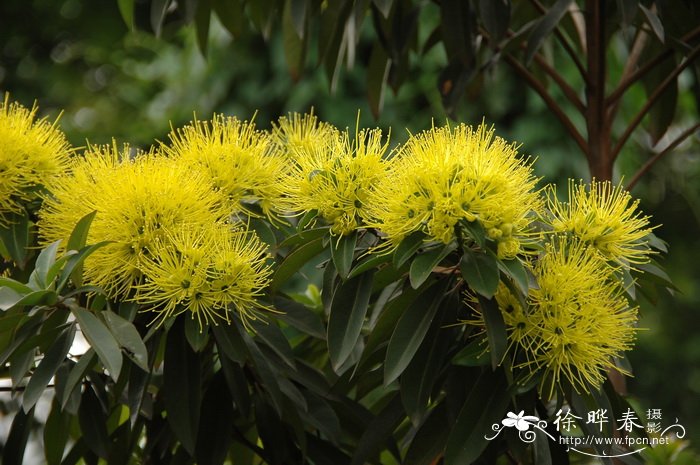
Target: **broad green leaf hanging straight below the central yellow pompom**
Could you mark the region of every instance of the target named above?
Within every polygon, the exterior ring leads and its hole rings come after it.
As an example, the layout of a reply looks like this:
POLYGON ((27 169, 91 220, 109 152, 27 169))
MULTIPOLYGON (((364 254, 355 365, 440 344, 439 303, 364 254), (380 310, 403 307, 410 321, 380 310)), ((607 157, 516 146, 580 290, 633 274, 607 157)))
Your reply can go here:
POLYGON ((372 272, 340 285, 333 293, 328 317, 328 354, 337 370, 350 356, 362 331, 372 291, 372 272))

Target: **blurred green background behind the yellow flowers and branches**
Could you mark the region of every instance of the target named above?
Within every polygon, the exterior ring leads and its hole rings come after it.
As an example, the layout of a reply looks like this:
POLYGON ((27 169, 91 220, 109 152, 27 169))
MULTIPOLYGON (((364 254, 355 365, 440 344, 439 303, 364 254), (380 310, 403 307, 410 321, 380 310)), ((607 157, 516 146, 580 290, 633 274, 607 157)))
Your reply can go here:
MULTIPOLYGON (((435 22, 430 10, 420 18, 419 34, 435 22)), ((75 146, 129 142, 148 147, 167 140, 171 126, 213 112, 255 118, 261 128, 290 111, 312 107, 322 120, 340 127, 391 128, 393 143, 408 131, 443 124, 447 115, 436 83, 446 63, 442 47, 412 57, 407 81, 398 93, 388 89, 384 110, 375 120, 366 99, 365 64, 372 28, 360 32, 355 65, 344 69, 334 92, 313 56, 299 80, 284 58, 282 37, 258 34, 232 39, 212 19, 209 49, 203 57, 191 27, 167 28, 158 39, 130 32, 116 0, 3 0, 0 6, 0 92, 26 106, 36 102, 60 125, 75 146)), ((614 60, 614 57, 613 57, 614 60)), ((620 66, 623 63, 619 64, 620 66)), ((566 74, 566 70, 563 70, 566 74)), ((688 91, 698 85, 682 75, 678 127, 693 123, 697 102, 688 91)), ((644 99, 639 91, 632 99, 644 99)), ((562 104, 564 104, 562 102, 562 104)), ((625 114, 626 109, 621 109, 625 114)), ((630 112, 632 110, 629 110, 630 112)), ((497 68, 471 86, 455 112, 458 121, 493 123, 497 133, 522 143, 520 151, 537 157, 535 169, 545 182, 564 187, 566 179, 587 178, 585 158, 539 97, 522 80, 497 68)), ((629 179, 650 154, 645 136, 632 138, 616 165, 616 179, 629 179)), ((641 309, 635 351, 629 358, 634 378, 629 391, 643 409, 662 409, 664 424, 675 418, 700 444, 700 144, 696 134, 656 164, 635 187, 641 209, 660 225, 656 234, 670 244, 662 260, 680 289, 674 296, 641 309)))

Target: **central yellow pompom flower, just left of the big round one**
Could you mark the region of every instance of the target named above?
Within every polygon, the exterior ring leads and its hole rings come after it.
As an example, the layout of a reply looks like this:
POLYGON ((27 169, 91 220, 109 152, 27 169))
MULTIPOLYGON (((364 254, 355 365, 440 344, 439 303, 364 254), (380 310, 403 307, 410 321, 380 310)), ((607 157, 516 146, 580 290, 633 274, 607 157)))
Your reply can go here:
POLYGON ((292 169, 286 181, 287 208, 316 210, 333 234, 350 234, 368 218, 369 198, 386 172, 388 142, 380 129, 330 134, 324 143, 292 147, 292 169))

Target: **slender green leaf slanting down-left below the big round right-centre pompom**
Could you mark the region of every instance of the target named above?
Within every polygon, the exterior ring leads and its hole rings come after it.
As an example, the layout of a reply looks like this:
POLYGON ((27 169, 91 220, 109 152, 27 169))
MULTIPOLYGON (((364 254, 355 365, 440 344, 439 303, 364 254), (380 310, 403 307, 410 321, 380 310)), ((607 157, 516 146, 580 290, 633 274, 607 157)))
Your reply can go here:
POLYGON ((444 291, 444 284, 432 285, 406 308, 389 340, 384 363, 384 385, 398 378, 413 359, 444 298, 444 291))

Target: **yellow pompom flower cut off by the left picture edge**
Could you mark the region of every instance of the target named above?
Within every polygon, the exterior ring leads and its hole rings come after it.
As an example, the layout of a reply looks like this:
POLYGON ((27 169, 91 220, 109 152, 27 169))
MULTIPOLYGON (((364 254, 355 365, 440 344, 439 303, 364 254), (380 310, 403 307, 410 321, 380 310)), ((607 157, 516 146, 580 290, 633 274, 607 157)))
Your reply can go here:
POLYGON ((0 225, 37 198, 39 189, 50 188, 71 154, 56 123, 37 120, 36 114, 36 106, 29 110, 10 103, 9 94, 0 105, 0 225))

